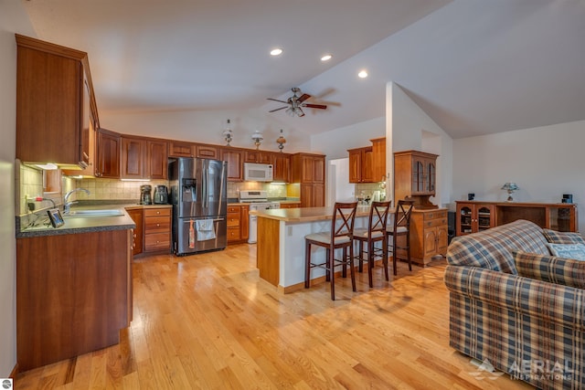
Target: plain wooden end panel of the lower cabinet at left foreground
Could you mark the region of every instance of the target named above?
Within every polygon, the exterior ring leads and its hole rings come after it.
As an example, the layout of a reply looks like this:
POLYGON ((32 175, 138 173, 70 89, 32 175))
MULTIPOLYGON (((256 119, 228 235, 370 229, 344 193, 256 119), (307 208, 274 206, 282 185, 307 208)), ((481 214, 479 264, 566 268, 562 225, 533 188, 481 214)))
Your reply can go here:
POLYGON ((21 372, 120 342, 132 321, 132 233, 16 238, 21 372))

